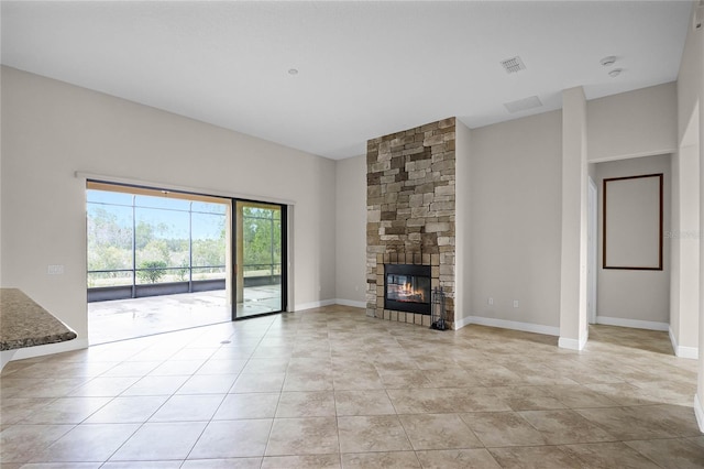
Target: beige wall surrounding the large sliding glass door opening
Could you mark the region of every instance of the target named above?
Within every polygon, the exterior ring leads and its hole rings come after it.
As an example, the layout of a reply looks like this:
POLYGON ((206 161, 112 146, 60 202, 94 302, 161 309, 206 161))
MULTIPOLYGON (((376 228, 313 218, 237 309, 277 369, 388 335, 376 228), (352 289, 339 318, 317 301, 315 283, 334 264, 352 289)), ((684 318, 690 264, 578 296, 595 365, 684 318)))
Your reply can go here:
POLYGON ((336 297, 334 161, 7 67, 2 134, 2 286, 24 290, 79 338, 86 216, 76 171, 290 200, 294 305, 336 297), (65 273, 47 275, 48 264, 65 273))

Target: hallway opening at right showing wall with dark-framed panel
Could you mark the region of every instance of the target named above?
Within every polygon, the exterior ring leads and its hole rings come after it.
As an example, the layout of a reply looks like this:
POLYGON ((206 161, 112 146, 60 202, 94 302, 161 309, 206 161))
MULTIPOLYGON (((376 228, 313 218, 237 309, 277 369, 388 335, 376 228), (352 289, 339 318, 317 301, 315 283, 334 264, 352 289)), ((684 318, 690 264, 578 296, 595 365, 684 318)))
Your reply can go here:
POLYGON ((594 166, 598 265, 590 296, 600 326, 591 328, 590 339, 592 332, 607 337, 601 326, 670 329, 671 246, 663 238, 671 230, 671 168, 670 154, 594 166))

